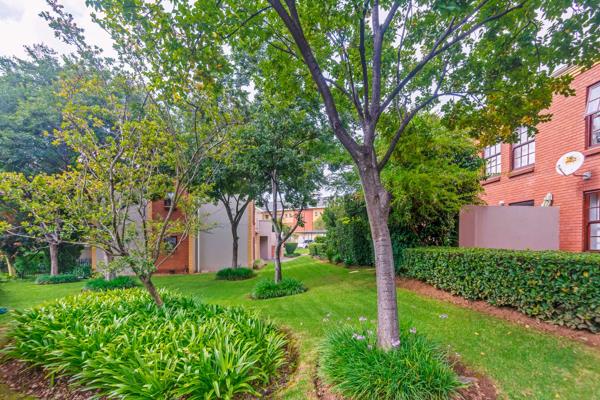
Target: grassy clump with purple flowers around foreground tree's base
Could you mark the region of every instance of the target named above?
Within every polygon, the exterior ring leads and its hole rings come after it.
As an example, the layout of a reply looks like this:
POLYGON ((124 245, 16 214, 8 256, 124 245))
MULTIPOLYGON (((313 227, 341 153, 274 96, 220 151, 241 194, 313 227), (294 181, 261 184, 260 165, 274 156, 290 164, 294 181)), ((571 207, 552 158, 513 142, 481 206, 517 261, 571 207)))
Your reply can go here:
POLYGON ((403 328, 400 345, 384 351, 374 330, 342 326, 326 336, 319 375, 334 391, 349 399, 441 400, 463 386, 445 353, 424 336, 403 328))

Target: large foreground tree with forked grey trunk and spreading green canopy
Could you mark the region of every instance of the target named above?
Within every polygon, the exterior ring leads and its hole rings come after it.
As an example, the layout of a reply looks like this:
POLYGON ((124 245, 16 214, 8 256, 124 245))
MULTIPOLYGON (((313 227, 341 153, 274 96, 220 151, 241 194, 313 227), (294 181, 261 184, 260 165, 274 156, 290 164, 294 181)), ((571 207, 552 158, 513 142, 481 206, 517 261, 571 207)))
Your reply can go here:
POLYGON ((599 13, 592 0, 268 0, 224 8, 238 27, 231 45, 259 49, 269 80, 294 88, 301 81, 305 93, 318 92, 357 166, 375 249, 382 348, 397 346, 399 335, 391 196, 381 171, 406 128, 444 100, 446 122, 469 127, 483 142, 510 139, 521 125, 535 130, 549 118, 540 111, 552 93, 569 93, 569 78, 551 76, 554 67, 589 66, 597 56, 599 13), (384 120, 393 131, 378 147, 384 120))

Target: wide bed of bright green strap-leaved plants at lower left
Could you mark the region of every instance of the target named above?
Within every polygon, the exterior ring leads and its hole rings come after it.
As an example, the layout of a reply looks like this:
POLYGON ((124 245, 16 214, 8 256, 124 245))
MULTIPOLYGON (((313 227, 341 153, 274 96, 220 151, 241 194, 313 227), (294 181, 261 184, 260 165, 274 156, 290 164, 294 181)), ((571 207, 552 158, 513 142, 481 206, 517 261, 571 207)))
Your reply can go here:
POLYGON ((143 289, 84 292, 17 313, 3 351, 98 397, 260 397, 289 340, 241 308, 143 289))

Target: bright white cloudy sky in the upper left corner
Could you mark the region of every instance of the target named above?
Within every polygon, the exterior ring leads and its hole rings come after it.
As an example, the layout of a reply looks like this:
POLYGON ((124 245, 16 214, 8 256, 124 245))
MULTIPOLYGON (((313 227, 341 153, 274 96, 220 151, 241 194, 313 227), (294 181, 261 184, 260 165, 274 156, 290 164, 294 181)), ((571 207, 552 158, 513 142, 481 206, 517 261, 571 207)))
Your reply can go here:
MULTIPOLYGON (((59 0, 73 14, 75 22, 85 30, 88 42, 113 56, 110 36, 92 22, 85 0, 59 0)), ((70 49, 56 37, 46 21, 38 14, 49 11, 46 0, 0 0, 0 56, 24 57, 23 46, 45 43, 59 53, 70 49)))

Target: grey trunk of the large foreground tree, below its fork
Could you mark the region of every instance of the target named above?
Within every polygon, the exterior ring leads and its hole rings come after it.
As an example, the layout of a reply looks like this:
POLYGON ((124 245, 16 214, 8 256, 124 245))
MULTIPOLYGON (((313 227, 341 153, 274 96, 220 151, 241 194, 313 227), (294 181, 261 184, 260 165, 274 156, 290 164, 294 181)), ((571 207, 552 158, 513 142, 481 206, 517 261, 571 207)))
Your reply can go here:
POLYGON ((367 215, 371 227, 377 281, 377 342, 379 347, 390 349, 400 344, 398 332, 398 303, 394 271, 394 254, 388 227, 390 194, 381 184, 377 164, 359 165, 367 215))

